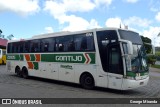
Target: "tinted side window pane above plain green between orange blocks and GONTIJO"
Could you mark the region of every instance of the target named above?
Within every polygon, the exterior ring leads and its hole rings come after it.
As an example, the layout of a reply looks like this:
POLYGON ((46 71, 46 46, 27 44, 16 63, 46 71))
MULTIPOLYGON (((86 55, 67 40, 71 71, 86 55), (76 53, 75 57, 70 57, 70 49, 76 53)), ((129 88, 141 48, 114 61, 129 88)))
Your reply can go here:
POLYGON ((53 52, 55 51, 55 39, 47 38, 41 39, 41 52, 53 52))

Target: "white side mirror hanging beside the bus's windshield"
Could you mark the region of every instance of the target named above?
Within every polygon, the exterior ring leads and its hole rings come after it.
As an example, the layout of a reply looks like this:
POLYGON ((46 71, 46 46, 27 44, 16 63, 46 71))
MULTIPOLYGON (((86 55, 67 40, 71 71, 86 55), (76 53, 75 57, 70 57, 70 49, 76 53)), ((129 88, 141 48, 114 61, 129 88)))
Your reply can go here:
POLYGON ((133 54, 132 42, 128 40, 120 40, 120 42, 122 42, 124 53, 128 55, 132 55, 133 54))

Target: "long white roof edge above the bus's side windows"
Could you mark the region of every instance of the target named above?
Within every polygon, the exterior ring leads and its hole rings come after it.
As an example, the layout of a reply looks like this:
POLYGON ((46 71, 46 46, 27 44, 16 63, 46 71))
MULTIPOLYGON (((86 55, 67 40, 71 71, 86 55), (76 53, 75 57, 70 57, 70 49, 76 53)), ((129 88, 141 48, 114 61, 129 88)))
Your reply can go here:
MULTIPOLYGON (((62 31, 62 32, 54 32, 54 33, 46 33, 46 34, 40 34, 40 35, 35 35, 32 36, 32 38, 28 39, 20 39, 20 40, 10 40, 9 42, 19 42, 19 41, 26 41, 26 40, 33 40, 33 39, 42 39, 42 38, 47 38, 47 37, 57 37, 57 36, 65 36, 65 35, 74 35, 74 34, 80 34, 80 33, 89 33, 93 31, 103 31, 103 30, 126 30, 130 31, 128 29, 122 29, 122 28, 94 28, 94 29, 88 29, 88 30, 82 30, 82 31, 62 31)), ((132 31, 133 32, 133 31, 132 31)))

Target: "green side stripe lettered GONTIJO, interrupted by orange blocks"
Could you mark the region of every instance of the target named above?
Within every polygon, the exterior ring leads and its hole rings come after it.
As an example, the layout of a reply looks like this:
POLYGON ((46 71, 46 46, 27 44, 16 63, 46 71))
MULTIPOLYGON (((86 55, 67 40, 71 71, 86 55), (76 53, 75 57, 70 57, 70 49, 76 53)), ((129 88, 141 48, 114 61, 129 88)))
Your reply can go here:
MULTIPOLYGON (((7 55, 7 60, 24 61, 24 55, 7 55)), ((30 54, 30 61, 35 61, 35 54, 30 54)), ((78 54, 41 54, 41 62, 64 62, 95 64, 95 53, 78 54)))

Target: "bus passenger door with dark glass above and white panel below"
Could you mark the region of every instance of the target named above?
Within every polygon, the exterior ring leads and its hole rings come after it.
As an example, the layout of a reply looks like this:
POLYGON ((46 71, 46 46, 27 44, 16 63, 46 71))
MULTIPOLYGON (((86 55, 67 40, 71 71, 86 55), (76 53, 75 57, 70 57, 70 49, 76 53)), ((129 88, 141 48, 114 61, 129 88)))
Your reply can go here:
POLYGON ((108 48, 108 87, 121 89, 123 80, 123 63, 119 45, 109 45, 108 48))

